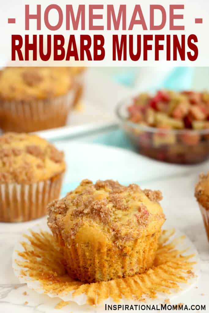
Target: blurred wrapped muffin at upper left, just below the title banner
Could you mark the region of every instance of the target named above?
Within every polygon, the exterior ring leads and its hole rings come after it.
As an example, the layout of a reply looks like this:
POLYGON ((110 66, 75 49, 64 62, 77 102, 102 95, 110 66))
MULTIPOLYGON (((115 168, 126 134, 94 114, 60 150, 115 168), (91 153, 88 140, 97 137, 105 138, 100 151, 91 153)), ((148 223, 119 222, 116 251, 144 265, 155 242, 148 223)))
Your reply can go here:
POLYGON ((66 67, 7 67, 0 72, 0 127, 32 132, 64 126, 74 98, 66 67))

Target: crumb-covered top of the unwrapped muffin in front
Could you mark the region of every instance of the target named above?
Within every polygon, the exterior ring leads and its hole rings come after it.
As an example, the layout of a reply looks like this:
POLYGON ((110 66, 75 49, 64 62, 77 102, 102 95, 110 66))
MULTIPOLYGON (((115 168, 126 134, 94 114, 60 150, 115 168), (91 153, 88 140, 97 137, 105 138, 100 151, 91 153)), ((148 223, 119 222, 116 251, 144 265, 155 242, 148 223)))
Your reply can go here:
POLYGON ((90 180, 49 205, 48 225, 70 245, 94 240, 123 244, 140 234, 153 234, 165 221, 160 191, 128 187, 112 180, 90 180))

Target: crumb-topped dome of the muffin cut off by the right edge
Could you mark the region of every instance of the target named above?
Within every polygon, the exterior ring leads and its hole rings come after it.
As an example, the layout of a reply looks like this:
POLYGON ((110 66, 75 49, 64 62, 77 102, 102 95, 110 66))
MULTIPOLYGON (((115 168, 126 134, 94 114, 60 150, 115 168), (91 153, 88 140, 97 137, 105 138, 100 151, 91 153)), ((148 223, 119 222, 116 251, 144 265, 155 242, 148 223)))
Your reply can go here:
POLYGON ((206 175, 200 174, 195 187, 195 197, 206 210, 209 210, 209 172, 206 175))

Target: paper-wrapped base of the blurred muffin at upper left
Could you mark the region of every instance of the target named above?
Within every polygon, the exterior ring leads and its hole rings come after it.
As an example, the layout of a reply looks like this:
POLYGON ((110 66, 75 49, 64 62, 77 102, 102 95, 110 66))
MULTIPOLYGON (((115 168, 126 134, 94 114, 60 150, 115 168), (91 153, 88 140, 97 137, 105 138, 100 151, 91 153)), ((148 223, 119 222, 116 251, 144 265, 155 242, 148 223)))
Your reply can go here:
POLYGON ((0 100, 0 128, 3 131, 33 132, 65 126, 75 91, 45 100, 0 100))

